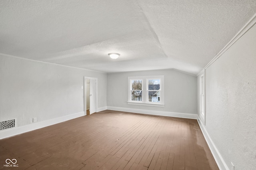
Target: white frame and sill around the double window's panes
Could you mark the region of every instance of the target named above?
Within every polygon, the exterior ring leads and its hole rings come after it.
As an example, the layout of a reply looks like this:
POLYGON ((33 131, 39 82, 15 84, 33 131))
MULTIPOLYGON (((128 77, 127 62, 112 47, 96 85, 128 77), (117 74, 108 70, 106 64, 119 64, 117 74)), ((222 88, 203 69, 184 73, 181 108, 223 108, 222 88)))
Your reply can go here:
POLYGON ((164 76, 132 76, 128 77, 127 104, 139 106, 164 107, 164 76), (142 101, 132 100, 132 80, 142 80, 142 101), (148 102, 148 80, 160 80, 160 102, 148 102))

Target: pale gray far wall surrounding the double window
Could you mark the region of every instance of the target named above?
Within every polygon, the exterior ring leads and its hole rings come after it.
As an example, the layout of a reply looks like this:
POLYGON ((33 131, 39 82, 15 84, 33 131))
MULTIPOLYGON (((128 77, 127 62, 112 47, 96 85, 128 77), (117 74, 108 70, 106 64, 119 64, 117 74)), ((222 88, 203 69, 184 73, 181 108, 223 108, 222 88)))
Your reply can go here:
POLYGON ((178 113, 197 113, 196 76, 177 70, 153 70, 108 74, 107 105, 132 109, 148 109, 178 113), (164 75, 165 107, 127 104, 128 76, 164 75))

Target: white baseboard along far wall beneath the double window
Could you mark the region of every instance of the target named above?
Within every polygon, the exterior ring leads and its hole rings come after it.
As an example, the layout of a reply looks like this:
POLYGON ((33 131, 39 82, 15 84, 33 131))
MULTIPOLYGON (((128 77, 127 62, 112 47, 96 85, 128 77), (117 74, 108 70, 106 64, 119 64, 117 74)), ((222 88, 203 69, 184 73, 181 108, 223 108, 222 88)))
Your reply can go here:
POLYGON ((176 113, 170 111, 156 111, 156 110, 145 110, 145 109, 131 109, 125 107, 112 107, 107 106, 108 110, 115 110, 115 111, 126 111, 132 113, 142 113, 147 115, 158 115, 158 116, 168 116, 168 117, 180 117, 180 118, 187 118, 187 119, 198 119, 197 114, 190 114, 190 113, 176 113))

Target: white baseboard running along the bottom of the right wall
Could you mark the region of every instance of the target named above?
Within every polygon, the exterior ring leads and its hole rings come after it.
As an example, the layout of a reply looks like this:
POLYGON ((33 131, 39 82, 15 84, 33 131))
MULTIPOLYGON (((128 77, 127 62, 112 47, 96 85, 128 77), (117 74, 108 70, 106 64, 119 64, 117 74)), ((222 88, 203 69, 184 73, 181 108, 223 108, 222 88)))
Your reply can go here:
POLYGON ((229 170, 226 162, 224 161, 224 159, 222 158, 220 152, 218 151, 217 147, 214 145, 210 135, 208 134, 208 132, 206 131, 206 128, 204 127, 204 125, 202 124, 200 119, 197 119, 199 127, 204 135, 204 139, 206 140, 212 155, 219 167, 220 170, 229 170))

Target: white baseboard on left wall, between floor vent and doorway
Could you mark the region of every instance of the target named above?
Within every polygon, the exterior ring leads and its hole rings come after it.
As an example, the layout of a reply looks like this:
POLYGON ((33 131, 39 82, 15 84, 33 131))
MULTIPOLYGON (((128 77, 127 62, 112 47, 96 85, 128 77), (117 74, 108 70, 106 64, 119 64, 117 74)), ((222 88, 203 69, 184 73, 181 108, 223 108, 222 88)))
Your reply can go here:
POLYGON ((50 125, 54 125, 54 124, 57 124, 57 123, 68 121, 70 119, 75 119, 75 118, 81 117, 81 116, 84 116, 84 111, 79 112, 79 113, 74 113, 74 114, 71 114, 71 115, 57 117, 57 118, 46 120, 46 121, 40 121, 40 122, 32 123, 32 124, 25 125, 25 126, 5 129, 5 130, 0 131, 0 139, 12 137, 12 136, 15 136, 15 135, 20 135, 22 133, 26 133, 26 132, 29 132, 29 131, 34 131, 36 129, 40 129, 40 128, 47 127, 47 126, 50 126, 50 125))

